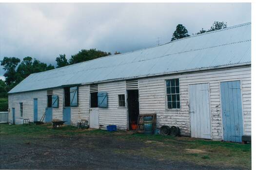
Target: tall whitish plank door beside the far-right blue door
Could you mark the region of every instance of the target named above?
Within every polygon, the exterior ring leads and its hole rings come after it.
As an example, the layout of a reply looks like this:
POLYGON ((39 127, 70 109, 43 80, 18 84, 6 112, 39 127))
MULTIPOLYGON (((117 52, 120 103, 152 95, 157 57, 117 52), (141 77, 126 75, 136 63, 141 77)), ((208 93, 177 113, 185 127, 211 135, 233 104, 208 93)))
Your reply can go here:
POLYGON ((211 139, 209 84, 189 85, 191 137, 211 139))

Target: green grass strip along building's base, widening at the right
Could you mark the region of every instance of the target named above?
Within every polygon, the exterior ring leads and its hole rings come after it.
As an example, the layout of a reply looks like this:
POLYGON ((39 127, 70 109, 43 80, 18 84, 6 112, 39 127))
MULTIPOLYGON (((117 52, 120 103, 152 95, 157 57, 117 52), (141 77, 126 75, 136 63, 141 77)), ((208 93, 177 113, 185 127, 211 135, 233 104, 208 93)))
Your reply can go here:
MULTIPOLYGON (((118 154, 145 156, 164 161, 188 161, 198 165, 251 168, 251 144, 239 144, 190 137, 133 134, 126 131, 80 130, 74 126, 52 129, 50 125, 0 125, 0 137, 111 136, 117 140, 142 143, 134 149, 115 148, 118 154)), ((29 141, 27 141, 29 142, 29 141)))

